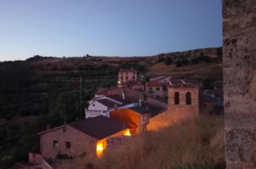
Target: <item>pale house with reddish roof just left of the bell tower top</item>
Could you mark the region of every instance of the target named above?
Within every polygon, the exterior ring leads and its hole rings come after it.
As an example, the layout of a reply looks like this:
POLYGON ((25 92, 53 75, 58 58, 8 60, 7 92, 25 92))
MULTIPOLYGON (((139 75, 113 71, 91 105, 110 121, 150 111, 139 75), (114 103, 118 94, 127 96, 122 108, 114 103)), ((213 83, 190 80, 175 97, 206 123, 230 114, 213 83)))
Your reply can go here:
POLYGON ((146 83, 146 92, 148 96, 163 98, 164 97, 163 84, 158 81, 148 81, 146 83))

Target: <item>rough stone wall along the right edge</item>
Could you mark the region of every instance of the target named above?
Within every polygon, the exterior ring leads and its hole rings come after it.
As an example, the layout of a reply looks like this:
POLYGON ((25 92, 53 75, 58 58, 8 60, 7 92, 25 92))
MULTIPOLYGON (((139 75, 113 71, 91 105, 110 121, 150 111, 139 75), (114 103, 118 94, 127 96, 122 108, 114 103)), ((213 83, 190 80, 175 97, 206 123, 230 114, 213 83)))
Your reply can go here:
POLYGON ((256 168, 256 1, 222 2, 226 165, 256 168))

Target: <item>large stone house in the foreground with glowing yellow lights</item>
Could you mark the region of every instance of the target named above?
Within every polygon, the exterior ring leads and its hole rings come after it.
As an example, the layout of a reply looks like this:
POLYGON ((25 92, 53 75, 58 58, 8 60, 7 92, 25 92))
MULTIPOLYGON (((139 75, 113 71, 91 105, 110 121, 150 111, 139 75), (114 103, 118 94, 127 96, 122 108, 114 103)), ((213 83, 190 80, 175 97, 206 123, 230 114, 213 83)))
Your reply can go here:
POLYGON ((100 157, 108 146, 107 138, 130 135, 130 131, 122 122, 98 116, 48 129, 39 135, 43 158, 55 158, 57 153, 72 158, 100 157))

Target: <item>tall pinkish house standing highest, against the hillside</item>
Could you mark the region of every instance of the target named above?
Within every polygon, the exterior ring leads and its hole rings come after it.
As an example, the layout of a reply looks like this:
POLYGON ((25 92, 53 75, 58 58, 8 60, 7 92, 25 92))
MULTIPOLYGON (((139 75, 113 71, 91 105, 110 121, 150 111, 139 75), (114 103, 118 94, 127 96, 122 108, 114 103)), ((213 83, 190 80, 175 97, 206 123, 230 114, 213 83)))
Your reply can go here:
POLYGON ((122 70, 118 72, 118 81, 121 84, 125 83, 126 81, 138 81, 140 74, 138 71, 134 69, 130 70, 122 70))

